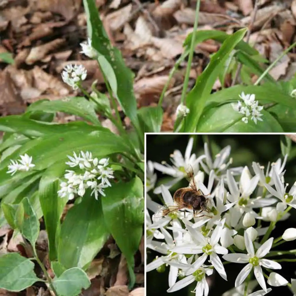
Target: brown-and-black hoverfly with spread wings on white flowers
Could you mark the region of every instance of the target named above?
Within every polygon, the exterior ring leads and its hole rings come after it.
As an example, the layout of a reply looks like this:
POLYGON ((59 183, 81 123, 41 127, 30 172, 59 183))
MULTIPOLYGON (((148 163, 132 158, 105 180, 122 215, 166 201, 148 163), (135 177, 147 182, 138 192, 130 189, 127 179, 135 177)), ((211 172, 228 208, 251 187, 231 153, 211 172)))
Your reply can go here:
POLYGON ((164 217, 170 213, 183 209, 193 210, 194 217, 202 211, 209 212, 209 208, 207 207, 209 199, 206 198, 209 194, 205 195, 200 189, 197 189, 191 165, 187 172, 187 178, 189 179, 189 187, 180 188, 174 193, 173 200, 176 205, 161 208, 159 212, 155 213, 155 217, 164 217))

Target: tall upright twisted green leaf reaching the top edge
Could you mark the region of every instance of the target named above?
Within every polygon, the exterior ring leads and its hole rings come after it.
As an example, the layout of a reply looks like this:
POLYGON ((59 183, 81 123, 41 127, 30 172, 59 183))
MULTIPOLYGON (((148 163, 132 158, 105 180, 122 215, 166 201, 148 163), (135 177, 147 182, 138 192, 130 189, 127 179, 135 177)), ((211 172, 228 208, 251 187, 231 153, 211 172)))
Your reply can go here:
POLYGON ((126 67, 120 51, 113 47, 104 30, 94 0, 83 0, 88 35, 99 54, 99 63, 124 113, 139 127, 137 104, 133 93, 133 73, 126 67), (103 58, 103 57, 104 58, 103 58), (108 65, 109 64, 109 65, 108 65))

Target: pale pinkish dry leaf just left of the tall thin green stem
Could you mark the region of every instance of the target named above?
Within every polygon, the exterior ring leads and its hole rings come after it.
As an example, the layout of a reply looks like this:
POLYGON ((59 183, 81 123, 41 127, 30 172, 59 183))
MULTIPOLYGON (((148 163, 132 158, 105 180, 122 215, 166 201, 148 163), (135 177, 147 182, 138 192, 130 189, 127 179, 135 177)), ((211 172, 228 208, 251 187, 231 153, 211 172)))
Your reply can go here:
POLYGON ((166 59, 173 59, 184 51, 182 42, 176 39, 152 37, 151 42, 166 59))

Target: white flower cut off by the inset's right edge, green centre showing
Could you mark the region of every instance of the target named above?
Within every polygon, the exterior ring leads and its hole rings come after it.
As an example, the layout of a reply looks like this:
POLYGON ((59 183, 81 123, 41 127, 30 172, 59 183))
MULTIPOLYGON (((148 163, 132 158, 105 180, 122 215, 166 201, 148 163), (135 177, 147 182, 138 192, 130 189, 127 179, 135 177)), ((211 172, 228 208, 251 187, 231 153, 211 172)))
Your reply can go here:
POLYGON ((284 186, 283 182, 281 181, 280 175, 276 172, 276 170, 272 170, 272 179, 276 190, 271 187, 269 184, 265 184, 266 189, 275 197, 277 197, 281 202, 278 202, 276 205, 276 210, 282 212, 287 208, 287 205, 296 208, 296 182, 293 184, 291 189, 288 193, 286 193, 287 185, 284 186))

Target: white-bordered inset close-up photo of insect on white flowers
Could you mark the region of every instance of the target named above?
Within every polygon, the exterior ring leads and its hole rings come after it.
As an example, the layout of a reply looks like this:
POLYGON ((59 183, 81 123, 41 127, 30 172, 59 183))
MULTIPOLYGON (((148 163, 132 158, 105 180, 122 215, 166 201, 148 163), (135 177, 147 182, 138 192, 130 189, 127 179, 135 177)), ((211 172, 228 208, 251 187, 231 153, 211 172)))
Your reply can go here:
POLYGON ((146 134, 146 295, 296 294, 296 136, 146 134))

